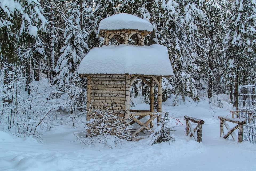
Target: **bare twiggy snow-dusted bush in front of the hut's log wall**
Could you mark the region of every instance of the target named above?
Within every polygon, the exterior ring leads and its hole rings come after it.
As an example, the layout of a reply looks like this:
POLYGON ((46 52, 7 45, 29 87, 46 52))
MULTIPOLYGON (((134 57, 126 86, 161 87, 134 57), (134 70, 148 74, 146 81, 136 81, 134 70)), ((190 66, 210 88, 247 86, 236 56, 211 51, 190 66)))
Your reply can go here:
POLYGON ((83 122, 85 125, 83 128, 87 129, 88 137, 77 135, 83 143, 93 146, 96 143, 103 143, 112 148, 112 145, 121 146, 126 140, 131 140, 132 126, 126 125, 126 122, 117 113, 110 112, 109 109, 111 110, 111 108, 108 108, 105 112, 92 109, 93 112, 87 113, 91 119, 83 122))

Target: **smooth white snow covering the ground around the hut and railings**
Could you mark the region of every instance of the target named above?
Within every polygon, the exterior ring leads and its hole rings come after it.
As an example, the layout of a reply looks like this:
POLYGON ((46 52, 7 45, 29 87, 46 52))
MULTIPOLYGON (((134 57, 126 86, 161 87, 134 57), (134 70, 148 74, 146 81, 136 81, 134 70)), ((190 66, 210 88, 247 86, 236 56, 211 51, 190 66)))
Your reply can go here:
MULTIPOLYGON (((147 104, 139 104, 139 99, 134 101, 138 103, 135 108, 149 109, 147 104)), ((72 142, 77 139, 73 132, 79 129, 70 125, 47 132, 42 136, 43 143, 0 131, 0 170, 256 170, 256 145, 219 137, 217 117, 231 117, 230 106, 222 109, 210 105, 208 99, 193 103, 189 98, 185 104, 171 104, 172 99, 163 103, 163 111, 174 114, 170 126, 178 123, 173 133, 176 141, 170 145, 150 146, 150 139, 145 138, 113 149, 89 147, 72 142), (205 121, 202 143, 185 135, 184 115, 205 121)))

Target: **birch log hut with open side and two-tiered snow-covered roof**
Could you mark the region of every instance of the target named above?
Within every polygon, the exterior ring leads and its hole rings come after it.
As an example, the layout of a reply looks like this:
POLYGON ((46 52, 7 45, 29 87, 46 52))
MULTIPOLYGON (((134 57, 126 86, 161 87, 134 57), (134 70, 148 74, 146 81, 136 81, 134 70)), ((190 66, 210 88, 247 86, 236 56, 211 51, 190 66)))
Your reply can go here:
POLYGON ((162 77, 172 77, 173 69, 165 46, 144 46, 144 38, 152 28, 151 23, 131 14, 112 15, 99 23, 99 36, 104 37, 105 45, 90 50, 78 69, 79 76, 87 81, 87 121, 92 109, 105 112, 112 107, 109 111, 126 125, 140 125, 133 137, 143 129, 154 132, 152 121, 161 120, 162 77), (129 44, 131 39, 136 45, 129 44), (110 44, 115 40, 118 46, 110 44), (150 87, 149 110, 130 109, 130 87, 136 79, 150 87), (155 84, 157 111, 154 111, 155 84), (143 123, 141 119, 145 116, 150 119, 143 123))

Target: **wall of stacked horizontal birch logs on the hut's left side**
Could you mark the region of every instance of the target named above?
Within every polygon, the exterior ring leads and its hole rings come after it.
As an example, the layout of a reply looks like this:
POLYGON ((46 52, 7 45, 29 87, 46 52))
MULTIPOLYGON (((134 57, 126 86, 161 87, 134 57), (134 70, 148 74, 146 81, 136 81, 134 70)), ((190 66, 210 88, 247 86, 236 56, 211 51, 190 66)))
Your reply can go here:
POLYGON ((92 109, 99 109, 102 112, 110 108, 109 112, 118 113, 118 116, 128 119, 127 112, 130 111, 130 108, 127 110, 130 107, 130 96, 127 97, 128 90, 130 93, 130 85, 126 83, 127 80, 130 81, 128 77, 129 75, 125 74, 87 76, 89 78, 87 79, 87 106, 91 105, 92 109), (129 101, 129 106, 126 101, 129 101))

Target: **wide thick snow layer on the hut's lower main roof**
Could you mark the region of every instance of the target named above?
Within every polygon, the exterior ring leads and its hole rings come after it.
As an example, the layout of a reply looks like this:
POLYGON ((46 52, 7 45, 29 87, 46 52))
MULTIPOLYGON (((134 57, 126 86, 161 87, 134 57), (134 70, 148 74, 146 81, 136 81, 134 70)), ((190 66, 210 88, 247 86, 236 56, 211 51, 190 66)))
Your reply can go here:
POLYGON ((165 46, 104 45, 93 48, 82 59, 78 74, 171 76, 173 68, 165 46))

